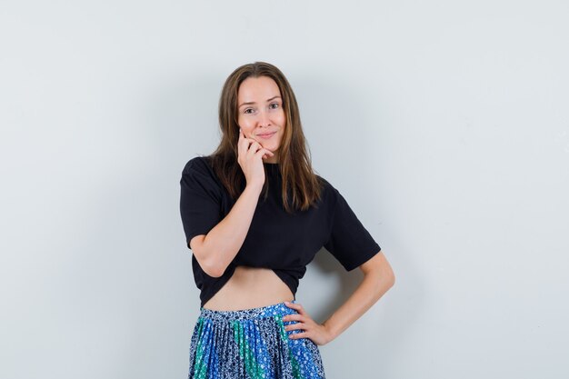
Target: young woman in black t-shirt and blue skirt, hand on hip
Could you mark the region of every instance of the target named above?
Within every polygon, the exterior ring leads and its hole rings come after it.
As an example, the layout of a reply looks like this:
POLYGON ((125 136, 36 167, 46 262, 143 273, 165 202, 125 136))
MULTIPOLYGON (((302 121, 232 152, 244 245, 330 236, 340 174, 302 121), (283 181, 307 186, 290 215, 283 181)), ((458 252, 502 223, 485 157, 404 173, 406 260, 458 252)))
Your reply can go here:
POLYGON ((314 174, 294 92, 278 68, 255 62, 235 69, 219 123, 219 147, 187 162, 180 180, 201 290, 189 379, 324 379, 317 345, 393 286, 391 266, 342 194, 314 174), (364 279, 320 324, 295 293, 323 246, 364 279))

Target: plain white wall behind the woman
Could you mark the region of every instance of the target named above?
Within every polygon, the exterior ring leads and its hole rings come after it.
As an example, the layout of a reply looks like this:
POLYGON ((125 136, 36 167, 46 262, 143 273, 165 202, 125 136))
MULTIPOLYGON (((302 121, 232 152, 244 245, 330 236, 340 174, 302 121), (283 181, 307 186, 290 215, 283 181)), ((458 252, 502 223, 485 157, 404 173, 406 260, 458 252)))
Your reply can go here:
MULTIPOLYGON (((199 299, 179 178, 235 67, 287 75, 314 167, 396 284, 328 379, 569 375, 564 1, 4 1, 0 376, 183 378, 199 299)), ((324 318, 361 274, 323 250, 324 318), (343 287, 344 286, 344 287, 343 287)))

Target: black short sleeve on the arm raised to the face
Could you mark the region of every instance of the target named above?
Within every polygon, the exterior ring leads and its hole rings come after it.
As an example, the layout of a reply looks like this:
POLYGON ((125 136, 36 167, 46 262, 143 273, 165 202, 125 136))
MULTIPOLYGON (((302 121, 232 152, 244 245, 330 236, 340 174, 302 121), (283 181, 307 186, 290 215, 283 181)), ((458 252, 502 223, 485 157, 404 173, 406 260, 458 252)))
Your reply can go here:
POLYGON ((191 159, 180 179, 180 214, 188 248, 195 235, 207 234, 222 219, 222 188, 203 157, 191 159))

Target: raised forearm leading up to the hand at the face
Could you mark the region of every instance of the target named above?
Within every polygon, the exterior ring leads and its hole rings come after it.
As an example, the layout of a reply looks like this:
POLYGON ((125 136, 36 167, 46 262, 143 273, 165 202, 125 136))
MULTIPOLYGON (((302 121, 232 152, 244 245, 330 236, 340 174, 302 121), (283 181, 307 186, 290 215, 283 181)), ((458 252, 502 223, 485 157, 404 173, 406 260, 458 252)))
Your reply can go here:
POLYGON ((262 185, 246 185, 231 211, 205 235, 200 255, 210 275, 221 276, 243 245, 262 185))

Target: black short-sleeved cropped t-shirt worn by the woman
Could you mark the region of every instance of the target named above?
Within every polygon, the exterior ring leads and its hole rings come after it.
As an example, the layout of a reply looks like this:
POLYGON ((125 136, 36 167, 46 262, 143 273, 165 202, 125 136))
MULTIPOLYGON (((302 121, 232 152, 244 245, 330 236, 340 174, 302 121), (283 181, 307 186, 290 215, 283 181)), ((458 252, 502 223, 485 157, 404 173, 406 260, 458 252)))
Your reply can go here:
MULTIPOLYGON (((278 164, 264 162, 269 194, 260 194, 245 241, 220 277, 205 274, 192 254, 192 269, 201 306, 214 296, 235 272, 237 265, 273 269, 296 294, 299 280, 314 255, 324 248, 351 271, 364 264, 381 249, 358 220, 344 196, 324 178, 324 191, 318 208, 288 214, 281 197, 282 177, 278 164)), ((180 179, 180 213, 185 241, 207 234, 225 218, 235 204, 206 156, 188 161, 180 179)))

